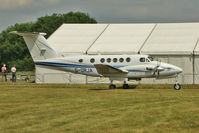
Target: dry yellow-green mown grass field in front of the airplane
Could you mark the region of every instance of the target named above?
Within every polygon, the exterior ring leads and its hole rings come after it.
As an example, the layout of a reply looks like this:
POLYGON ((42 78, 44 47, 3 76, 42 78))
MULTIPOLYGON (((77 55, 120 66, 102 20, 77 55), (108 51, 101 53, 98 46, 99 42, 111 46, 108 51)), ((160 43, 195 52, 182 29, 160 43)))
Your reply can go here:
POLYGON ((0 84, 0 133, 199 132, 198 86, 107 87, 0 84))

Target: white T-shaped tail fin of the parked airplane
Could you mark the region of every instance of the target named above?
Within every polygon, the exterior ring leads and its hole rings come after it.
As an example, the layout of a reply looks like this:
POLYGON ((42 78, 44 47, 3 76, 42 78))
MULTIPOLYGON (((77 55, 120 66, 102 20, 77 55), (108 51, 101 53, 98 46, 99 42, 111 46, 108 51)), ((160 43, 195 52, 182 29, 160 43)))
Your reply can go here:
POLYGON ((55 50, 47 43, 46 39, 44 38, 46 33, 18 31, 12 31, 10 33, 23 36, 34 61, 57 57, 55 50))

